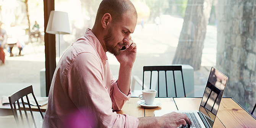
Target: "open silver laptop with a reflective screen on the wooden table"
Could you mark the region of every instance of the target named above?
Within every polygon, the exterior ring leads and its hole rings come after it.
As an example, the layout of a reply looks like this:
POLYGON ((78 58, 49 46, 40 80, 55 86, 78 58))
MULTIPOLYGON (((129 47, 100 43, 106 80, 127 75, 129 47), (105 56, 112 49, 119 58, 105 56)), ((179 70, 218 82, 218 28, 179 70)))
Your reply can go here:
POLYGON ((212 128, 227 81, 227 76, 212 67, 199 110, 155 110, 154 115, 159 117, 170 112, 185 113, 192 122, 190 127, 185 128, 212 128))

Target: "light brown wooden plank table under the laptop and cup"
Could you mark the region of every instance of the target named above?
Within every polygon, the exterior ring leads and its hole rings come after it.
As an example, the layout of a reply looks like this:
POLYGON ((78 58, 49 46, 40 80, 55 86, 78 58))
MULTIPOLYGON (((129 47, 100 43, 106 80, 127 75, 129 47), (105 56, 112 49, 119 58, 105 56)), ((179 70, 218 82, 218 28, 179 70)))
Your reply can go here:
MULTIPOLYGON (((162 105, 156 108, 143 108, 137 105, 138 97, 131 97, 122 110, 116 111, 120 114, 128 114, 133 117, 153 117, 154 110, 199 110, 202 98, 156 98, 162 105)), ((214 128, 255 128, 256 119, 241 107, 232 98, 222 98, 219 111, 215 119, 214 128)))

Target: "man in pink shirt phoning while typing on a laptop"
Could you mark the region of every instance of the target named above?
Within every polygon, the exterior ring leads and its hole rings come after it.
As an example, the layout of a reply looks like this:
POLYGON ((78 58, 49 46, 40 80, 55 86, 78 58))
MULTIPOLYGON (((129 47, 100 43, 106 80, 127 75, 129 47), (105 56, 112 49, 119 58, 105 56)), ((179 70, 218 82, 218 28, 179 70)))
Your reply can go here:
POLYGON ((131 96, 131 69, 136 58, 134 32, 137 13, 130 0, 102 0, 93 28, 87 29, 57 65, 45 112, 45 128, 150 128, 191 123, 185 114, 135 118, 117 114, 131 96), (125 51, 120 51, 125 46, 125 51), (113 53, 120 70, 116 80, 106 52, 113 53))

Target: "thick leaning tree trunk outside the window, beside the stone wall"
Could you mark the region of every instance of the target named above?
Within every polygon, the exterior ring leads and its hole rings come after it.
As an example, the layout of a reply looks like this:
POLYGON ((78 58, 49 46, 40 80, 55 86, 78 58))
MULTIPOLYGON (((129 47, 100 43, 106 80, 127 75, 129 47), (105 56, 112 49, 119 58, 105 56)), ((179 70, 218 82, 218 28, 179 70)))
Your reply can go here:
POLYGON ((172 64, 187 64, 194 70, 201 67, 206 26, 213 0, 188 0, 178 47, 172 64))

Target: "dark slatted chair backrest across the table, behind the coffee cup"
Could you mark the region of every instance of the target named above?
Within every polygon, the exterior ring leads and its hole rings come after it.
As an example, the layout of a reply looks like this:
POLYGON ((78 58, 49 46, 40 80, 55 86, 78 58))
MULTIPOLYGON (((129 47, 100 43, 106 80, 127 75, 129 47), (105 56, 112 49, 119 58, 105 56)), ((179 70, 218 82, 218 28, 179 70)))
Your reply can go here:
POLYGON ((151 84, 152 84, 152 71, 157 71, 157 97, 159 97, 159 71, 164 71, 165 73, 165 91, 166 91, 166 97, 168 97, 168 84, 167 84, 167 71, 172 71, 172 76, 173 76, 173 85, 175 89, 175 97, 177 97, 177 89, 176 89, 176 83, 175 81, 175 71, 180 71, 181 72, 181 79, 182 79, 182 84, 183 84, 183 91, 184 91, 184 96, 186 97, 186 92, 185 92, 185 86, 184 86, 184 80, 183 80, 183 73, 182 73, 182 66, 144 66, 143 67, 143 84, 142 84, 142 89, 144 89, 144 73, 145 71, 150 71, 150 84, 149 84, 149 89, 151 89, 151 84))

